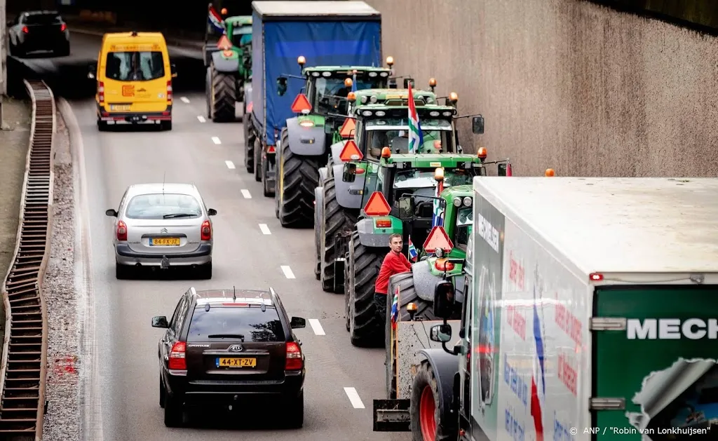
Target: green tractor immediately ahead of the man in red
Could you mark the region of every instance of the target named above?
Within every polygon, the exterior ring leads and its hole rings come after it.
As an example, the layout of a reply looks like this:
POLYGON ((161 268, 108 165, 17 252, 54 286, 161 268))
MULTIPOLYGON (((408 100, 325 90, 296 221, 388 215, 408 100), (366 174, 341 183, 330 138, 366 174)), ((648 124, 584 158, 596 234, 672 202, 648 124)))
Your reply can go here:
MULTIPOLYGON (((447 200, 437 197, 439 185, 444 188, 470 185, 473 177, 486 175, 488 164, 498 164, 498 175, 510 175, 508 159, 485 162, 485 154, 483 148, 477 155, 392 154, 385 147, 379 162, 348 162, 344 165, 342 182, 355 180, 358 165, 363 165, 365 170, 361 173, 365 175, 361 190, 364 208, 351 235, 338 242, 340 251, 345 252, 337 253, 344 264, 346 327, 353 345, 386 344, 386 320, 376 313, 374 285, 388 252, 388 237, 393 233, 401 234, 406 251, 409 238, 417 251, 421 252, 424 246, 430 249, 437 235, 447 234, 440 222, 434 228, 437 213, 447 210, 447 200), (435 204, 435 201, 439 202, 435 204)), ((429 272, 430 263, 427 259, 424 264, 429 272)), ((423 292, 420 283, 424 282, 415 280, 414 286, 418 292, 423 292)), ((433 284, 429 289, 433 289, 433 284)))

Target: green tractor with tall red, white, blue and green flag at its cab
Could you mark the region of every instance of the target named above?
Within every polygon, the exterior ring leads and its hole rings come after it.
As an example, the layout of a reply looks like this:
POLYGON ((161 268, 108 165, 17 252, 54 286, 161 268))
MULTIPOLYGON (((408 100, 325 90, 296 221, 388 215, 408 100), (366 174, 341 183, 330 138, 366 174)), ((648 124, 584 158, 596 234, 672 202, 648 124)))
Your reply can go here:
MULTIPOLYGON (((411 80, 411 79, 410 79, 411 80)), ((421 120, 424 147, 421 153, 454 153, 456 128, 453 122, 455 103, 447 99, 445 106, 437 103, 433 92, 434 78, 429 80, 432 91, 412 90, 414 105, 421 120)), ((374 161, 381 158, 381 148, 393 152, 407 151, 406 138, 409 126, 408 89, 369 89, 355 94, 355 106, 345 126, 358 128, 350 141, 342 139, 330 147, 331 154, 325 167, 320 168, 320 185, 314 190, 314 275, 322 281, 327 292, 344 292, 342 261, 337 259, 337 236, 350 233, 361 210, 364 176, 358 168, 355 182, 342 182, 344 163, 367 157, 374 161), (351 124, 348 124, 351 123, 351 124), (367 147, 370 147, 367 151, 367 147)), ((477 126, 477 132, 482 131, 477 126)))

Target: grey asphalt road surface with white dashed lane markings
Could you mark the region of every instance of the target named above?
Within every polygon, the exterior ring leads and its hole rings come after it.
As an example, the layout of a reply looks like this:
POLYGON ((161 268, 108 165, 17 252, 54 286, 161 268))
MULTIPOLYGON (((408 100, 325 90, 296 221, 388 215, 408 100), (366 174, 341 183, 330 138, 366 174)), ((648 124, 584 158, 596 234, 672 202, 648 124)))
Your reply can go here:
MULTIPOLYGON (((97 55, 99 38, 73 34, 72 42, 70 57, 24 60, 51 83, 55 75, 55 84, 70 98, 77 88, 67 83, 69 78, 57 80, 56 75, 66 76, 70 70, 82 73, 86 61, 97 55)), ((195 56, 188 50, 170 53, 178 58, 195 56)), ((201 73, 201 61, 199 64, 201 73)), ((180 78, 184 73, 180 68, 180 78)), ((241 124, 205 121, 202 83, 195 83, 197 86, 200 90, 194 92, 190 83, 185 92, 175 90, 174 127, 169 132, 100 133, 95 126, 93 99, 86 93, 85 98, 75 93, 75 99, 70 99, 82 134, 89 211, 85 221, 91 254, 87 271, 95 302, 95 386, 100 400, 88 411, 98 412, 89 424, 101 424, 103 440, 118 441, 212 441, 236 440, 238 436, 293 441, 409 440, 409 434, 372 432, 372 399, 385 396, 383 350, 358 349, 350 344, 342 296, 322 292, 314 279, 314 232, 281 228, 274 217, 274 201, 264 198, 258 182, 244 170, 241 124), (104 212, 117 208, 128 185, 161 182, 163 176, 166 182, 195 183, 208 208, 218 210, 213 218, 214 274, 210 281, 115 279, 113 222, 104 212), (162 330, 151 328, 150 319, 154 315, 171 316, 177 299, 190 286, 231 289, 233 285, 274 287, 289 315, 307 318, 307 328, 297 330, 307 356, 301 430, 280 430, 264 423, 251 424, 248 429, 245 418, 221 412, 195 415, 190 427, 164 427, 158 404, 157 361, 157 340, 162 330), (251 432, 243 432, 246 430, 251 432)), ((274 409, 266 412, 281 419, 274 409)))

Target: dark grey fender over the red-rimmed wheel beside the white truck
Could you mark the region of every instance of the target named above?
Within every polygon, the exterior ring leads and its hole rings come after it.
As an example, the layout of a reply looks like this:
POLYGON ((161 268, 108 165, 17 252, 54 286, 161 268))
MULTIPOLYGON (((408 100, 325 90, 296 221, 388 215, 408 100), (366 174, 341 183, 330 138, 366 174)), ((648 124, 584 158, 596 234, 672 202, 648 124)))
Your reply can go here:
POLYGON ((457 356, 447 353, 443 348, 421 349, 416 354, 429 362, 437 377, 439 412, 441 412, 439 421, 442 422, 442 432, 454 432, 459 423, 458 409, 454 409, 454 382, 459 376, 457 356))

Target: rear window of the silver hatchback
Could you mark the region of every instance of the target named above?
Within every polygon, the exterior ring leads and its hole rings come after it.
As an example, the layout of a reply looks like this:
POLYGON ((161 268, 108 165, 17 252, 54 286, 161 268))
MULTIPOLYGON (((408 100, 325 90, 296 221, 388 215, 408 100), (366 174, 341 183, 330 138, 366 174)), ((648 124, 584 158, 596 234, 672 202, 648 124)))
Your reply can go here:
POLYGON ((127 204, 125 215, 131 219, 191 219, 202 215, 202 206, 191 195, 136 195, 127 204))

